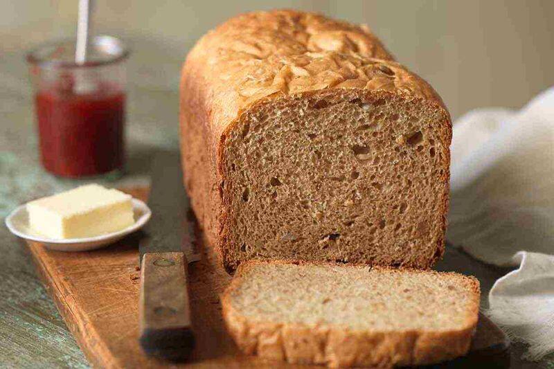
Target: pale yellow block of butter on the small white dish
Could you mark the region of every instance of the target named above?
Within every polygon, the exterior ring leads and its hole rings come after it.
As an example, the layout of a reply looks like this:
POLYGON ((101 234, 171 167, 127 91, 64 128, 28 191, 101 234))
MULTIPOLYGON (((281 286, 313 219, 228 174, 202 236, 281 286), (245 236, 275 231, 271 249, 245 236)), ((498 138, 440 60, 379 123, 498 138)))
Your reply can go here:
POLYGON ((131 195, 97 184, 27 204, 29 226, 50 238, 94 237, 134 224, 131 195))

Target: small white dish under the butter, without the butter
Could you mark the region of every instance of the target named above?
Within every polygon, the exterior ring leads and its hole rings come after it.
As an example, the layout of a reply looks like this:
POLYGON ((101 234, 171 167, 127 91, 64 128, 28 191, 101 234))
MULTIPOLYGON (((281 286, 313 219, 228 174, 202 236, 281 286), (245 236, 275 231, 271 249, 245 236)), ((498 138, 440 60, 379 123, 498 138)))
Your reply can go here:
POLYGON ((134 224, 122 229, 121 231, 98 235, 95 237, 65 239, 44 237, 43 235, 34 232, 29 227, 28 213, 25 205, 19 206, 13 210, 8 217, 6 217, 6 226, 8 226, 8 229, 14 235, 28 241, 40 242, 41 244, 44 244, 44 246, 48 247, 48 249, 57 251, 89 251, 113 244, 129 233, 139 230, 148 222, 150 216, 152 215, 150 208, 148 208, 143 201, 135 198, 132 199, 132 204, 134 224))

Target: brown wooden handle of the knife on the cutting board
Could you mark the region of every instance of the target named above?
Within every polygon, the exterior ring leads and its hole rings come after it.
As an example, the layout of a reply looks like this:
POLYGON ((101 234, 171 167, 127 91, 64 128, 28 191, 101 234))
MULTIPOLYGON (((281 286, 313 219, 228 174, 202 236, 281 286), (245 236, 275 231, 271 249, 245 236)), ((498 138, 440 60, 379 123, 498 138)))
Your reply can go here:
POLYGON ((145 253, 141 264, 141 346, 150 356, 182 361, 193 350, 184 253, 145 253))

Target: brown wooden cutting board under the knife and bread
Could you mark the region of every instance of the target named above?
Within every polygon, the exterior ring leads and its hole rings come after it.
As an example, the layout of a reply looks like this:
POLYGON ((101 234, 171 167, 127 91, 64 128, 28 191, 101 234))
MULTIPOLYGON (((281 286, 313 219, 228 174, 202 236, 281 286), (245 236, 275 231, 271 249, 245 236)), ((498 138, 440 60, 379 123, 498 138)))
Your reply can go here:
MULTIPOLYGON (((145 188, 127 192, 142 199, 148 195, 145 188)), ((80 253, 49 251, 41 244, 28 244, 48 293, 96 368, 178 367, 145 357, 139 346, 139 236, 132 235, 105 249, 80 253)), ((202 260, 188 267, 197 345, 186 365, 292 368, 240 354, 226 334, 221 315, 220 294, 231 277, 219 266, 211 249, 203 246, 201 249, 202 260)), ((505 339, 491 324, 480 319, 472 354, 457 363, 465 366, 467 360, 472 360, 506 366, 509 356, 505 339)))

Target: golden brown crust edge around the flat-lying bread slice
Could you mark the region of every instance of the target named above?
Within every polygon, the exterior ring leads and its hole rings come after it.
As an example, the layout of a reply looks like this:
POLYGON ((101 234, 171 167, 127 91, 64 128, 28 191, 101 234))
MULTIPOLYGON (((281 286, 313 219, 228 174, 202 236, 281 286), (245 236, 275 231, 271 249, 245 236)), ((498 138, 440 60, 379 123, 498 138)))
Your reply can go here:
MULTIPOLYGON (((481 294, 479 281, 472 276, 411 269, 417 273, 436 273, 442 276, 464 278, 473 292, 473 300, 463 329, 443 332, 421 330, 370 332, 327 324, 308 326, 298 323, 260 322, 244 317, 233 308, 231 295, 241 285, 243 273, 260 263, 289 264, 290 262, 280 260, 244 262, 238 267, 231 285, 222 296, 226 327, 245 354, 256 354, 267 359, 285 360, 289 363, 316 363, 331 367, 390 368, 439 363, 463 356, 470 348, 479 315, 481 294)), ((402 273, 400 269, 387 267, 376 267, 376 269, 402 273)))

